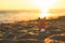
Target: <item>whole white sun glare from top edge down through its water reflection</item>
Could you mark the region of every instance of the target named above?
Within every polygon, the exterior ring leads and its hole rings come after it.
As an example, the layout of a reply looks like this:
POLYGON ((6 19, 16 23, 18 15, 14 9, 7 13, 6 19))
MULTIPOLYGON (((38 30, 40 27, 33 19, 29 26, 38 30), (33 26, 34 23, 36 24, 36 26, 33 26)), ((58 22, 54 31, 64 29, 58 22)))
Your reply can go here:
POLYGON ((49 10, 54 8, 58 0, 31 0, 31 3, 41 11, 38 17, 51 16, 52 14, 49 13, 49 10))

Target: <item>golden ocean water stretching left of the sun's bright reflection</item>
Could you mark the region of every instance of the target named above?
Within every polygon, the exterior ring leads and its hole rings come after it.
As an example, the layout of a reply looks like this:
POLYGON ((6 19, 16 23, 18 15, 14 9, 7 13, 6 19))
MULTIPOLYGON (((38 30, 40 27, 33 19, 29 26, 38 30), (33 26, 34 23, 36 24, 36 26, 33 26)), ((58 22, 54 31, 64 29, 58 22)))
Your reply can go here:
POLYGON ((27 20, 35 19, 38 17, 37 13, 28 12, 0 12, 0 22, 17 22, 17 20, 27 20))

